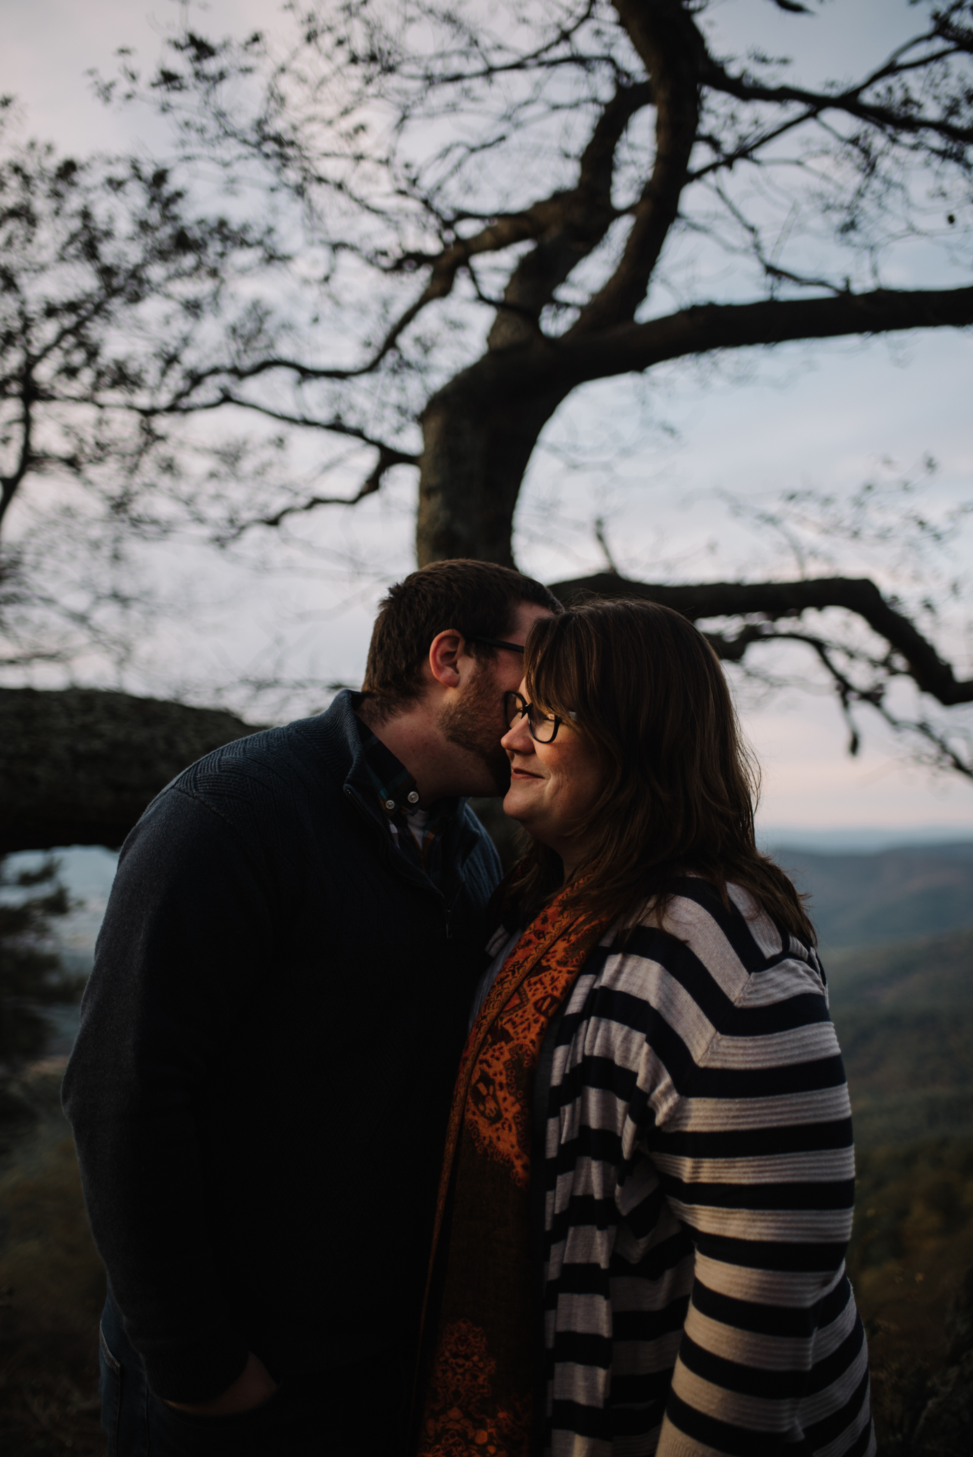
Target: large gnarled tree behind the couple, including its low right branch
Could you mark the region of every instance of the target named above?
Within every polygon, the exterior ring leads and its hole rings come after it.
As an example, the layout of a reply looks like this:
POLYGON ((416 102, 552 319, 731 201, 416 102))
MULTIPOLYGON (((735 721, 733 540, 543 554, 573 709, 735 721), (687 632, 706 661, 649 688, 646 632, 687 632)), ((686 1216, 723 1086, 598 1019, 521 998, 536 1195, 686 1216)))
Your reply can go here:
MULTIPOLYGON (((134 421, 112 519, 227 546, 406 471, 419 562, 511 562, 524 471, 586 383, 973 322, 969 0, 903 4, 912 35, 887 51, 875 35, 859 76, 816 83, 756 34, 743 57, 718 54, 708 9, 344 0, 288 6, 287 44, 186 31, 146 77, 125 57, 101 92, 169 115, 160 175, 185 179, 198 272, 140 315, 138 369, 84 386, 99 418, 134 421), (202 221, 217 194, 223 232, 202 221), (916 239, 939 261, 891 287, 916 239)), ((820 19, 779 9, 797 45, 820 19)), ((34 386, 16 379, 26 420, 34 386)), ((70 453, 58 466, 74 471, 70 453)), ((902 680, 973 701, 871 580, 666 587, 609 571, 559 590, 670 600, 744 664, 759 644, 804 644, 849 714, 899 721, 902 680), (835 634, 835 613, 859 637, 835 634)), ((953 730, 925 711, 907 727, 970 772, 953 730)))

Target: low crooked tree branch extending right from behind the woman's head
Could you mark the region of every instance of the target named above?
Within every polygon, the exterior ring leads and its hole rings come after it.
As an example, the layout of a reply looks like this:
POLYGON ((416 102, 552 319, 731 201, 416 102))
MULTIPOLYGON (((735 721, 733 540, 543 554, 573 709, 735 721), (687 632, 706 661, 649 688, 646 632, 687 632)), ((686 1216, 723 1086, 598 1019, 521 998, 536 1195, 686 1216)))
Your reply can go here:
MULTIPOLYGON (((808 609, 843 608, 862 618, 868 627, 905 660, 909 676, 923 694, 945 707, 973 702, 973 680, 957 682, 935 647, 913 624, 897 612, 867 577, 819 577, 810 581, 705 581, 699 586, 663 586, 628 581, 615 573, 597 573, 572 581, 556 581, 551 590, 570 602, 584 593, 600 597, 648 597, 673 608, 692 622, 706 618, 753 616, 778 621, 800 616, 808 609)), ((728 647, 746 650, 762 637, 759 627, 743 629, 728 647)), ((743 651, 722 653, 743 657, 743 651)))

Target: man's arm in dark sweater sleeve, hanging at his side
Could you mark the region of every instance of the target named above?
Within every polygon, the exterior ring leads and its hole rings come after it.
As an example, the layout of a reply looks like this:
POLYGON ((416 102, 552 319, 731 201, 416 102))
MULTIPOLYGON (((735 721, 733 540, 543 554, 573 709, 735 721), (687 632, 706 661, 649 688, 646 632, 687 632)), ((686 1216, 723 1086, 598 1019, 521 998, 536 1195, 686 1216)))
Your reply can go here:
POLYGON ((125 844, 64 1080, 114 1298, 153 1390, 181 1405, 252 1371, 210 1249, 198 1109, 269 965, 269 899, 259 848, 165 793, 125 844))

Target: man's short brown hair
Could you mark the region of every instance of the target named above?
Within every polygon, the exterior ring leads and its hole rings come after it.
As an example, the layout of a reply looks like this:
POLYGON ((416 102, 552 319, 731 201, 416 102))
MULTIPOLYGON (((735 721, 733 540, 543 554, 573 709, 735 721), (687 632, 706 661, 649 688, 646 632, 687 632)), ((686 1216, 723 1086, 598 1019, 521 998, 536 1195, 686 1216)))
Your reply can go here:
MULTIPOLYGON (((540 581, 492 561, 434 561, 409 573, 379 605, 363 691, 373 695, 379 711, 418 698, 422 664, 437 634, 454 628, 468 641, 503 638, 513 629, 521 602, 564 610, 540 581)), ((470 651, 476 657, 495 654, 478 644, 470 651)))

